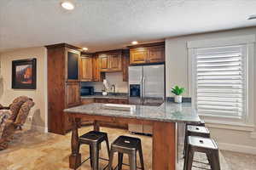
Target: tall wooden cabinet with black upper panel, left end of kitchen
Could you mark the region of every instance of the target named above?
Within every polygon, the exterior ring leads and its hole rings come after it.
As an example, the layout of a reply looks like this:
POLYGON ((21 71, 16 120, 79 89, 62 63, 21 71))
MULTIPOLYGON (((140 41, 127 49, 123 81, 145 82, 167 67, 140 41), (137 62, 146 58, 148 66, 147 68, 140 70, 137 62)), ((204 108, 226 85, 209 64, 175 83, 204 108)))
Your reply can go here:
POLYGON ((48 85, 48 129, 50 133, 65 134, 72 128, 63 112, 80 105, 80 51, 67 43, 46 46, 48 85))

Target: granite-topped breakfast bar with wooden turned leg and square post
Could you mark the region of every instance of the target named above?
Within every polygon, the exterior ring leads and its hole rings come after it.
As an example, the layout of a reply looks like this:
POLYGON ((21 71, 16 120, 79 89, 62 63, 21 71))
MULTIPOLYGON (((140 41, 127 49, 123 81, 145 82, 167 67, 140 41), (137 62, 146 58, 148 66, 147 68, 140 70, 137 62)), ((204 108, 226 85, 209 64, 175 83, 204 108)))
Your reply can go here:
POLYGON ((191 104, 165 102, 160 106, 136 105, 135 110, 116 111, 105 108, 104 104, 79 105, 64 112, 73 120, 69 167, 76 169, 81 164, 79 153, 79 120, 94 122, 94 130, 99 131, 98 122, 122 122, 153 126, 152 168, 154 170, 175 170, 177 159, 177 122, 200 122, 191 104))

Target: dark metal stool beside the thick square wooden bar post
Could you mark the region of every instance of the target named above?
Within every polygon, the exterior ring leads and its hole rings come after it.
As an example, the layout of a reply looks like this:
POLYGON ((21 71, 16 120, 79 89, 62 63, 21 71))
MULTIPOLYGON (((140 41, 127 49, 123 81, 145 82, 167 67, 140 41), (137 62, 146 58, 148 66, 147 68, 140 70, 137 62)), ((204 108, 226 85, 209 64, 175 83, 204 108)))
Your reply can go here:
MULTIPOLYGON (((115 139, 113 144, 111 144, 110 150, 110 160, 109 160, 109 170, 112 170, 113 164, 113 154, 118 152, 119 162, 118 170, 122 169, 123 164, 123 154, 129 156, 130 170, 137 169, 137 151, 139 153, 141 169, 144 170, 144 161, 143 161, 143 149, 141 139, 132 138, 128 136, 119 136, 118 139, 115 139)), ((116 167, 115 167, 116 169, 116 167)))

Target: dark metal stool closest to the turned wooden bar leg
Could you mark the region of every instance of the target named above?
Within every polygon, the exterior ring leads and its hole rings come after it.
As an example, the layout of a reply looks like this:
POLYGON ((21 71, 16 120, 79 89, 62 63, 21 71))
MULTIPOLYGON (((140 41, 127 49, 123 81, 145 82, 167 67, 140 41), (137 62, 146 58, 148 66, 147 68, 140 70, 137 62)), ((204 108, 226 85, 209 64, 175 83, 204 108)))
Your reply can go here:
POLYGON ((109 159, 110 150, 109 150, 108 134, 107 133, 90 131, 89 133, 84 133, 83 135, 81 135, 79 137, 79 147, 81 144, 89 144, 90 145, 90 158, 87 158, 85 161, 90 159, 90 167, 92 167, 93 170, 99 169, 99 159, 108 161, 107 159, 103 159, 103 158, 99 157, 100 144, 103 141, 106 142, 107 150, 108 150, 108 159, 109 159))

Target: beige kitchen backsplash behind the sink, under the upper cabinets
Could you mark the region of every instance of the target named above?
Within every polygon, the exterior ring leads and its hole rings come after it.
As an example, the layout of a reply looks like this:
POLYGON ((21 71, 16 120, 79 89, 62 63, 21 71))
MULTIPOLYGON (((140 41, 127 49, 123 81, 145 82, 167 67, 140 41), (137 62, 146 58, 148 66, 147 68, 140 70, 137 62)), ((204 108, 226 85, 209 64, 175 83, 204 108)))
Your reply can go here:
MULTIPOLYGON (((128 93, 128 82, 123 82, 122 72, 108 72, 106 79, 110 85, 115 85, 116 93, 128 93)), ((82 86, 93 86, 95 92, 102 92, 103 82, 82 82, 82 86)))

